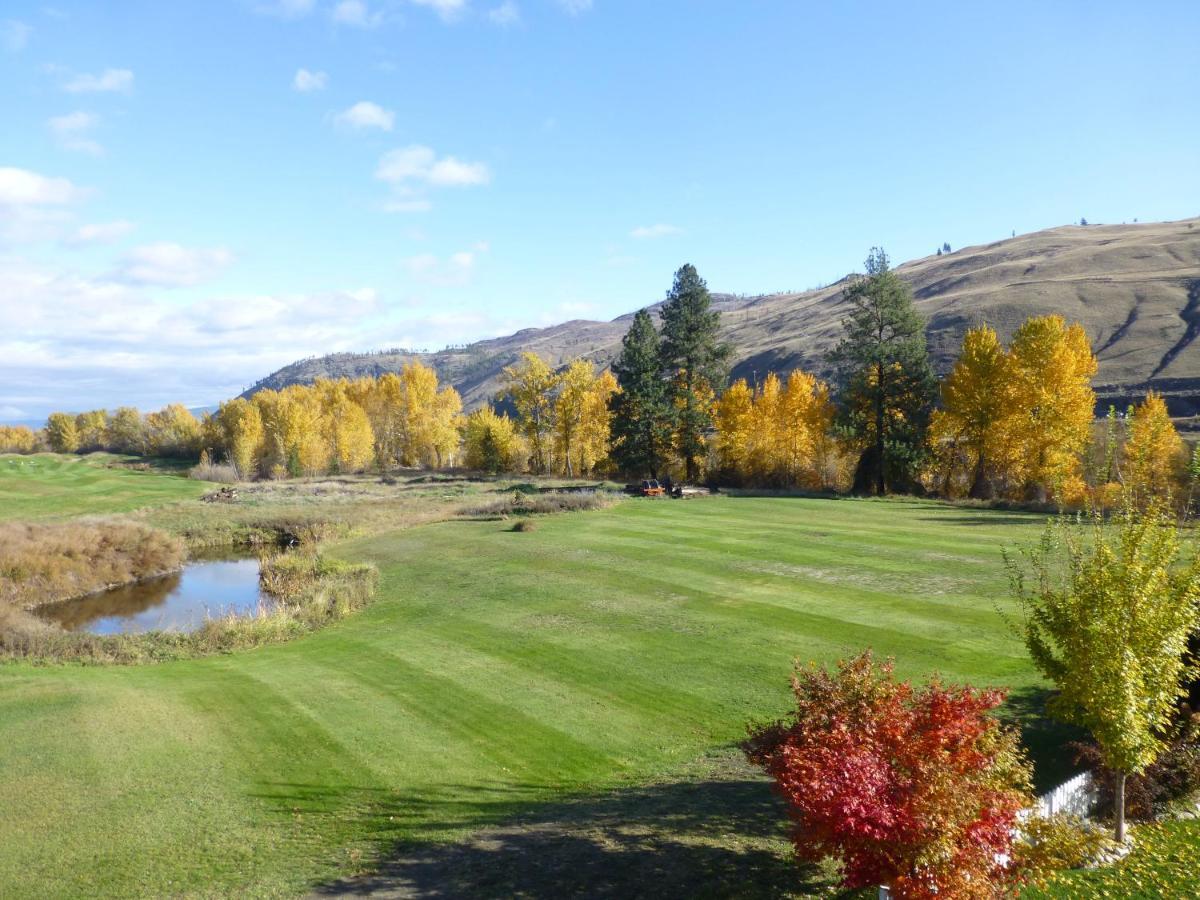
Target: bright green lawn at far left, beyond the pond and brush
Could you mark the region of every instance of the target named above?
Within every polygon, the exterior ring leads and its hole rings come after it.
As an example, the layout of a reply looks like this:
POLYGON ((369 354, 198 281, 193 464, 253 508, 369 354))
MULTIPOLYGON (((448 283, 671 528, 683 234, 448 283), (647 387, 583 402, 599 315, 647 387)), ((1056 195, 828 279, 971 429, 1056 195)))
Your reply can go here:
POLYGON ((127 512, 199 497, 212 490, 181 475, 138 472, 108 463, 112 454, 0 455, 0 521, 127 512))

